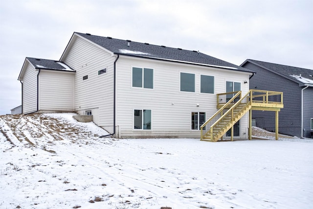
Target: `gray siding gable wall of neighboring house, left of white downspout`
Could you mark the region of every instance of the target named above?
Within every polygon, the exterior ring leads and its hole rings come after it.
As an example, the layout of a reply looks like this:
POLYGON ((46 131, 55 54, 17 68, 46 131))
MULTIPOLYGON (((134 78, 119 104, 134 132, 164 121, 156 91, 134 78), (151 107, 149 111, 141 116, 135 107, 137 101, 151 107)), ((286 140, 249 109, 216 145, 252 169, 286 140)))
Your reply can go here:
MULTIPOLYGON (((301 137, 301 88, 295 82, 247 62, 244 68, 256 74, 250 79, 250 89, 283 92, 284 108, 279 112, 279 133, 301 137)), ((275 112, 252 111, 256 125, 275 131, 275 112)))

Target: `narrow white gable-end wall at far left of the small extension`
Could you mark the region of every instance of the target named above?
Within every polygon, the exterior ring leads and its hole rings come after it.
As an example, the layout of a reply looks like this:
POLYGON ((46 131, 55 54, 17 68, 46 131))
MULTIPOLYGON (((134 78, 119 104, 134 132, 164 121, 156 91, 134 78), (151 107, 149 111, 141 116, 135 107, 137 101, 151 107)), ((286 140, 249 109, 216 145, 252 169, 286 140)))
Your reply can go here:
MULTIPOLYGON (((27 62, 28 63, 28 62, 27 62)), ((37 111, 37 74, 38 71, 30 65, 26 64, 26 70, 22 79, 23 82, 23 114, 37 111)))

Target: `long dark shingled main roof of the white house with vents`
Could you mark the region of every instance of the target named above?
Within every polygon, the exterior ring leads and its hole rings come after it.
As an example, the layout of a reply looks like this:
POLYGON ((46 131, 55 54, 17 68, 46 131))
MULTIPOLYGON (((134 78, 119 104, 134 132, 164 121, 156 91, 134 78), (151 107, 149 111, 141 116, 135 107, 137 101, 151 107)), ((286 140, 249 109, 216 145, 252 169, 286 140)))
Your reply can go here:
POLYGON ((120 40, 111 37, 95 36, 85 33, 77 32, 75 33, 99 46, 108 49, 114 54, 142 57, 148 59, 161 59, 176 62, 187 62, 198 65, 212 65, 226 69, 228 67, 228 69, 230 70, 252 72, 251 70, 225 62, 215 57, 211 57, 198 51, 184 50, 181 48, 172 48, 167 46, 157 46, 147 43, 120 40))

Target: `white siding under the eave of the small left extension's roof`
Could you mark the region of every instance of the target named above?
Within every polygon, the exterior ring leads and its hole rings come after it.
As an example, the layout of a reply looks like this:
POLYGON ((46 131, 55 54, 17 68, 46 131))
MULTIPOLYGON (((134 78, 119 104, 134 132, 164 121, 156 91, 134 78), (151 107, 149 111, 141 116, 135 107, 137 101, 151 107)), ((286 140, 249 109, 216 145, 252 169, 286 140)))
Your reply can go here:
POLYGON ((39 110, 73 111, 74 73, 41 70, 39 110))

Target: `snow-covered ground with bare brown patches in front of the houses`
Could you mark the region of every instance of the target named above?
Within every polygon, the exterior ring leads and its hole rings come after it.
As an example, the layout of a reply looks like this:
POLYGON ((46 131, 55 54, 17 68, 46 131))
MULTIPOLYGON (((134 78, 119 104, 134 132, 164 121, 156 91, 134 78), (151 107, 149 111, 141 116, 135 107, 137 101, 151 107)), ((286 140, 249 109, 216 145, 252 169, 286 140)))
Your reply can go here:
POLYGON ((1 209, 313 208, 313 140, 99 138, 72 115, 0 116, 1 209))

